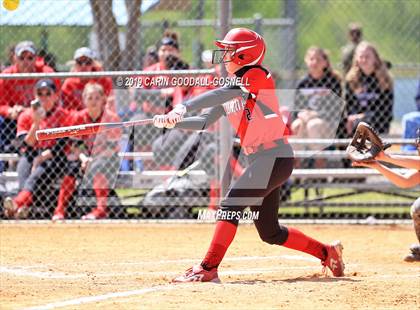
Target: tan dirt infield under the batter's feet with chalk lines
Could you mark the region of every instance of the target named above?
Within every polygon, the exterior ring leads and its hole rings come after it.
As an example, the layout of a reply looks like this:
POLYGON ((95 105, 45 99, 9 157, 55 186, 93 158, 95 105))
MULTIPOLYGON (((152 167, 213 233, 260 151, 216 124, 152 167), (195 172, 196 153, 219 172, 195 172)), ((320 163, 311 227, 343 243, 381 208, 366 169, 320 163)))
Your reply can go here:
POLYGON ((2 224, 1 309, 418 309, 420 264, 402 257, 411 226, 301 225, 342 240, 346 277, 311 256, 258 239, 242 225, 222 284, 171 285, 200 261, 208 224, 2 224))

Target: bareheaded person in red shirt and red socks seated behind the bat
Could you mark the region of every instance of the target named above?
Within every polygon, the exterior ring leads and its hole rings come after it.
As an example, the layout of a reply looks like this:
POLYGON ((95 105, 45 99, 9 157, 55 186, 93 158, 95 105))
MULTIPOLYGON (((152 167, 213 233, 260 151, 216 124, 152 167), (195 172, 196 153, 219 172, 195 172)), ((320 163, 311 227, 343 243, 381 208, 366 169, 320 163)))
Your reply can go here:
MULTIPOLYGON (((73 115, 73 124, 119 122, 119 117, 106 109, 106 95, 100 84, 89 83, 83 90, 83 103, 85 109, 73 115)), ((82 219, 94 220, 107 217, 107 197, 109 188, 113 186, 118 176, 120 160, 118 157, 121 129, 115 129, 96 135, 83 136, 83 146, 79 144, 74 148, 78 157, 78 165, 84 172, 81 182, 82 188, 93 188, 96 196, 96 207, 84 215, 82 219)), ((73 156, 74 157, 74 156, 73 156)), ((70 197, 76 189, 76 178, 79 169, 69 169, 61 183, 57 208, 52 220, 63 220, 70 197)))

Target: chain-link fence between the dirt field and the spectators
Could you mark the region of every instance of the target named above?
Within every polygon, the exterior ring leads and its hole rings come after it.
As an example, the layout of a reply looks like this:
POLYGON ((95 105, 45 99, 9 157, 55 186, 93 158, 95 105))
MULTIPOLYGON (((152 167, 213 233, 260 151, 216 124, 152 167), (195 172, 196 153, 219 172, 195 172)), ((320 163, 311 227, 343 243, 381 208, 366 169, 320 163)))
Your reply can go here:
MULTIPOLYGON (((265 38, 264 64, 292 131, 296 166, 279 216, 409 217, 419 188, 351 167, 344 150, 365 121, 394 142, 390 153, 417 154, 420 4, 228 2, 232 27, 265 38)), ((235 140, 228 168, 220 165, 218 125, 137 126, 55 143, 35 141, 34 128, 147 119, 211 90, 203 81, 220 77, 210 50, 226 22, 222 4, 26 0, 1 8, 1 216, 193 218, 216 209, 220 176, 235 179, 246 167, 235 140), (184 78, 201 83, 187 87, 184 78)))

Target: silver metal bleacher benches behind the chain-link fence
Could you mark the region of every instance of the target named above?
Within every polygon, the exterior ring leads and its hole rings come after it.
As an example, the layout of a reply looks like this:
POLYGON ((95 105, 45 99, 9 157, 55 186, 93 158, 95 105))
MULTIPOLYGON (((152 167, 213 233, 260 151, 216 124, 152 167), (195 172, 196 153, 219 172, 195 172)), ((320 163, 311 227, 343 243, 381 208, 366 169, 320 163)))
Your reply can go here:
MULTIPOLYGON (((349 139, 339 139, 336 141, 326 141, 321 139, 308 140, 308 139, 290 139, 292 145, 305 145, 305 144, 322 144, 334 143, 335 145, 346 145, 349 139)), ((413 139, 388 139, 387 143, 392 144, 409 144, 414 143, 413 139)), ((416 152, 400 152, 392 151, 391 154, 405 154, 415 155, 416 152)), ((141 159, 143 161, 153 160, 153 153, 151 152, 135 152, 135 153, 119 153, 119 156, 125 159, 141 159)), ((322 151, 295 151, 297 158, 326 158, 328 160, 341 160, 346 158, 345 151, 342 150, 322 150, 322 151)), ((17 154, 0 154, 0 160, 17 161, 17 154)), ((395 168, 396 169, 396 168, 395 168)), ((400 173, 405 173, 407 169, 396 169, 400 173)), ((116 188, 132 188, 150 190, 155 186, 162 184, 165 180, 172 177, 186 175, 195 183, 203 184, 206 186, 207 175, 206 172, 200 169, 199 165, 191 167, 188 171, 167 171, 167 170, 145 170, 145 171, 120 171, 116 183, 116 188)), ((418 189, 415 191, 397 189, 394 185, 388 182, 379 172, 368 168, 307 168, 307 169, 294 169, 291 180, 295 188, 302 188, 305 190, 305 195, 302 200, 285 202, 286 206, 304 206, 309 208, 311 206, 323 208, 326 206, 340 206, 337 198, 355 196, 366 192, 376 192, 391 195, 394 197, 415 199, 418 189), (346 189, 345 193, 325 195, 323 189, 326 188, 339 188, 346 189), (310 197, 309 192, 315 191, 315 198, 310 197)), ((0 174, 0 183, 10 184, 17 183, 17 172, 6 171, 0 174)), ((6 186, 6 188, 8 188, 6 186)), ((204 202, 204 200, 203 200, 204 202)), ((381 201, 377 204, 372 202, 354 201, 346 202, 346 206, 351 205, 368 205, 368 206, 408 206, 410 202, 381 201)))

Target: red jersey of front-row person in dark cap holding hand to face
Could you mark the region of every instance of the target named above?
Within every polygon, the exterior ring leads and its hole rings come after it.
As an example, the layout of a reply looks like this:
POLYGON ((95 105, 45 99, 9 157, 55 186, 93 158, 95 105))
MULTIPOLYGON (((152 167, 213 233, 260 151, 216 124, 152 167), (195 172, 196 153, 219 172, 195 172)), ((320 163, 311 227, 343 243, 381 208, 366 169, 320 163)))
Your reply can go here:
MULTIPOLYGON (((72 123, 71 115, 67 110, 56 106, 53 110, 47 112, 46 117, 39 124, 39 129, 48 129, 55 127, 70 126, 72 123)), ((17 121, 17 136, 27 134, 33 124, 33 110, 26 109, 22 112, 17 121)), ((38 141, 33 146, 35 149, 47 149, 55 145, 56 140, 38 141)))

